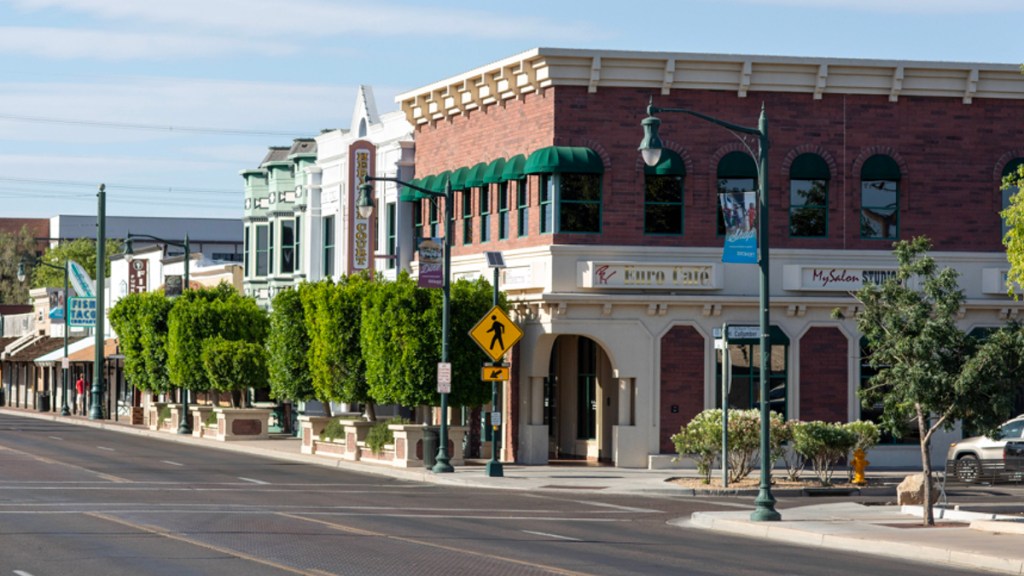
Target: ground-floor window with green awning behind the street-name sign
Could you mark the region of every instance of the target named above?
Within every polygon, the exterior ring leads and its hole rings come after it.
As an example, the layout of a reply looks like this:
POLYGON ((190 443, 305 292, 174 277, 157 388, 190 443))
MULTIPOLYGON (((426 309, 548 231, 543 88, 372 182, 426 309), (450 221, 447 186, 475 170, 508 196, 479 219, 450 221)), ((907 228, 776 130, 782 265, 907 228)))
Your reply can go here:
MULTIPOLYGON (((787 361, 790 338, 780 329, 771 327, 771 356, 768 360, 768 408, 786 417, 788 395, 787 361)), ((716 355, 715 370, 717 406, 722 406, 722 355, 716 355)), ((730 341, 729 408, 749 410, 761 407, 761 343, 760 339, 730 341)))

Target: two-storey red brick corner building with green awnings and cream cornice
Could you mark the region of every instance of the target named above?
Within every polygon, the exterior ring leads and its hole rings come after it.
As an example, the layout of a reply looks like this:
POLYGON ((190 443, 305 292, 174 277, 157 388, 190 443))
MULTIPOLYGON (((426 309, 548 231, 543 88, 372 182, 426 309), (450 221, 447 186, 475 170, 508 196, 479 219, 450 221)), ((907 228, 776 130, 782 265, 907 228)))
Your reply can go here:
MULTIPOLYGON (((501 288, 525 336, 506 458, 665 465, 679 426, 721 403, 716 332, 758 323, 758 266, 722 262, 719 203, 756 190, 757 141, 666 114, 648 168, 651 99, 745 126, 767 114, 769 402, 787 417, 874 416, 856 397, 870 374, 849 292, 895 270, 894 240, 927 235, 959 271, 965 329, 1020 310, 998 215, 1000 178, 1024 159, 1016 66, 538 48, 397 99, 416 183, 457 191, 454 276, 489 278, 483 251, 508 264, 501 288)), ((379 192, 377 213, 396 200, 379 192)), ((443 208, 420 202, 416 234, 440 236, 443 208)), ((730 406, 758 405, 758 355, 756 339, 729 346, 730 406)), ((902 442, 870 460, 920 460, 902 442)))

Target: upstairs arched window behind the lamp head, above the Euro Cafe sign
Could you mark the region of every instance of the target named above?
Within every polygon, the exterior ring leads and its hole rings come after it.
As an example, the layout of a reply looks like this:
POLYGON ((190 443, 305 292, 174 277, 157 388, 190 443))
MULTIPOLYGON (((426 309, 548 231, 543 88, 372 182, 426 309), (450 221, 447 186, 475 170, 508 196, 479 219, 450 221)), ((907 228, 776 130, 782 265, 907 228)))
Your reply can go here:
POLYGON ((644 166, 644 234, 683 234, 683 180, 686 166, 671 150, 662 151, 656 166, 644 166))

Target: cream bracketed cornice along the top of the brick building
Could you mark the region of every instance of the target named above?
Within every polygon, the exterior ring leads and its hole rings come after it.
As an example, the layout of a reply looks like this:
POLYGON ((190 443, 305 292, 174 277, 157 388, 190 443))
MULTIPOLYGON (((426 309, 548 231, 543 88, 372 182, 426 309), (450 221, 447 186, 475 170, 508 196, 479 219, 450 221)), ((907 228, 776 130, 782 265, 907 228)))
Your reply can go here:
POLYGON ((483 109, 551 86, 1024 99, 1017 65, 692 52, 534 48, 398 94, 415 125, 483 109))

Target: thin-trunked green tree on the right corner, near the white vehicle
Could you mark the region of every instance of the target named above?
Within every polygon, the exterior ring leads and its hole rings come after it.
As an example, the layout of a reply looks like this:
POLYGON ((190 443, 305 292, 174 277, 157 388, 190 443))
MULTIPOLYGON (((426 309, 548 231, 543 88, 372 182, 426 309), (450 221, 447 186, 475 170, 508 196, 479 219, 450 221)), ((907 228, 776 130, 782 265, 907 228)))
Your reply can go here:
MULTIPOLYGON (((854 294, 863 304, 857 327, 873 351, 878 373, 861 389, 864 406, 883 404, 883 425, 897 430, 914 420, 921 433, 922 471, 931 478, 933 435, 964 426, 992 431, 1012 409, 1013 375, 1024 368, 1020 325, 1000 328, 984 342, 963 332, 957 273, 939 270, 924 237, 894 244, 895 277, 854 294)), ((926 526, 935 524, 931 483, 925 483, 926 526)))

